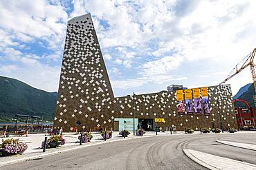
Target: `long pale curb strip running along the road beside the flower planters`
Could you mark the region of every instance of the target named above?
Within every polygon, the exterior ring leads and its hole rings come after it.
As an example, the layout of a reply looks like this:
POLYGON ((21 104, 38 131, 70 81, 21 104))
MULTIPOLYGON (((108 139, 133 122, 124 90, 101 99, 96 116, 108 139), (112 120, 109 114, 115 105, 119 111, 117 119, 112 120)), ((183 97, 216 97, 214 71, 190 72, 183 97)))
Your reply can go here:
MULTIPOLYGON (((168 136, 168 135, 158 135, 158 136, 168 136)), ((141 136, 141 137, 134 137, 134 138, 129 138, 128 137, 128 138, 123 138, 123 139, 118 139, 118 140, 110 140, 110 141, 106 141, 106 142, 91 143, 89 145, 82 145, 82 146, 78 145, 78 146, 73 147, 73 148, 63 149, 63 150, 60 150, 60 151, 53 151, 51 153, 41 153, 41 154, 36 155, 36 156, 29 156, 29 157, 26 157, 26 158, 18 158, 18 159, 15 159, 15 160, 8 160, 8 161, 5 161, 5 162, 0 162, 0 167, 3 167, 3 166, 8 165, 8 164, 14 164, 14 163, 17 163, 17 162, 26 162, 28 160, 42 159, 44 156, 51 156, 51 155, 55 155, 55 154, 66 152, 66 151, 73 151, 73 150, 76 150, 76 149, 82 149, 82 148, 91 147, 91 146, 95 146, 95 145, 104 145, 104 144, 110 143, 110 142, 121 142, 121 141, 124 141, 124 140, 139 139, 139 138, 152 138, 152 137, 157 137, 157 136, 141 136)))

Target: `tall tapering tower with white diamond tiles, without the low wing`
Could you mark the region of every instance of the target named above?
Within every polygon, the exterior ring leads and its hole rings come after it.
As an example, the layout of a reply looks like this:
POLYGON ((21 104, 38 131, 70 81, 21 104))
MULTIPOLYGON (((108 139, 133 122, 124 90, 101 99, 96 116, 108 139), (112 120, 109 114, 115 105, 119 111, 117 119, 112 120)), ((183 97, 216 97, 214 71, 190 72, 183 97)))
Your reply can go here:
POLYGON ((113 91, 91 14, 68 21, 55 127, 111 127, 113 91))

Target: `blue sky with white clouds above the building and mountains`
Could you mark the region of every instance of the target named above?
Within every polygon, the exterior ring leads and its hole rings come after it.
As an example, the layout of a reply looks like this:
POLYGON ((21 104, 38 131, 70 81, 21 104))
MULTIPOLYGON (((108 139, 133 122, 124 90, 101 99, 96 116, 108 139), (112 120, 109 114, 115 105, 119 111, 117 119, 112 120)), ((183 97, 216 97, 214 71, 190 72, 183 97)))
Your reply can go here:
MULTIPOLYGON (((66 22, 91 12, 115 96, 218 85, 256 47, 255 1, 0 1, 0 75, 56 92, 66 22)), ((227 83, 251 83, 244 70, 227 83)))

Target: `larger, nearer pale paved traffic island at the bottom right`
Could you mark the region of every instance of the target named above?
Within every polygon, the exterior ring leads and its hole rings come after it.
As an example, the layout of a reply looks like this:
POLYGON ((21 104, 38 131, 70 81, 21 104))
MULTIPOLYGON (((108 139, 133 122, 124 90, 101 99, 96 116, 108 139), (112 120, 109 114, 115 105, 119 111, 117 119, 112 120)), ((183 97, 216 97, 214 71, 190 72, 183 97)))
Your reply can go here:
POLYGON ((241 162, 238 160, 232 160, 229 158, 224 158, 221 156, 214 156, 208 153, 203 153, 201 151, 194 151, 191 149, 183 149, 183 152, 194 162, 201 164, 203 167, 208 169, 256 169, 256 164, 249 164, 246 162, 241 162))

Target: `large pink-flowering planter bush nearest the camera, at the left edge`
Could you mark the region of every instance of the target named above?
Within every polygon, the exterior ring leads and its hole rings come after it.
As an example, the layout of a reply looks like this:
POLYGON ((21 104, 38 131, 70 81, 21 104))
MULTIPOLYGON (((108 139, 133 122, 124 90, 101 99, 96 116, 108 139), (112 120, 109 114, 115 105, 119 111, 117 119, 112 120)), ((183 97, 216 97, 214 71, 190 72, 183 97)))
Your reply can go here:
POLYGON ((1 156, 21 154, 28 148, 28 145, 24 142, 20 142, 19 139, 10 138, 2 141, 3 143, 0 145, 1 156))

